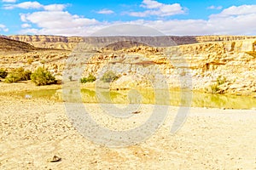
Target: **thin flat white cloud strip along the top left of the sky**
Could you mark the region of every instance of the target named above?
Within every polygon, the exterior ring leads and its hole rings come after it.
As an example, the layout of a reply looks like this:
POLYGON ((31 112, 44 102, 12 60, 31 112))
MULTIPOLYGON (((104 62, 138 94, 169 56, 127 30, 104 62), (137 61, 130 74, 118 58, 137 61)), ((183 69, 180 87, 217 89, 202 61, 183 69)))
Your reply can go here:
POLYGON ((38 2, 24 2, 24 3, 17 3, 17 4, 5 4, 3 5, 3 8, 5 9, 13 9, 13 8, 24 8, 24 9, 40 9, 43 8, 44 10, 48 11, 62 11, 64 8, 66 8, 66 4, 49 4, 49 5, 43 5, 38 2))

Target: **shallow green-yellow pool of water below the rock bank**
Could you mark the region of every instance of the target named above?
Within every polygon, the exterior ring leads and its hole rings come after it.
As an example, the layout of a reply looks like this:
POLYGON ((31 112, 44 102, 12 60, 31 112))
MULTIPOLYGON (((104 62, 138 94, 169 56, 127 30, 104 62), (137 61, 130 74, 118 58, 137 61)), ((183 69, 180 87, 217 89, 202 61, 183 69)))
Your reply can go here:
MULTIPOLYGON (((56 93, 56 89, 27 91, 18 94, 25 97, 26 94, 32 98, 55 99, 61 101, 61 94, 56 93)), ((73 92, 70 91, 70 97, 73 92)), ((165 90, 154 91, 152 89, 137 90, 113 90, 95 88, 83 88, 79 94, 84 103, 143 103, 158 105, 186 105, 193 107, 226 108, 226 109, 252 109, 256 108, 256 99, 251 96, 236 96, 230 94, 205 94, 189 93, 189 91, 174 91, 169 93, 165 90), (169 94, 169 97, 168 95, 169 94), (183 94, 183 97, 181 96, 183 94), (191 98, 190 98, 191 97, 191 98)))

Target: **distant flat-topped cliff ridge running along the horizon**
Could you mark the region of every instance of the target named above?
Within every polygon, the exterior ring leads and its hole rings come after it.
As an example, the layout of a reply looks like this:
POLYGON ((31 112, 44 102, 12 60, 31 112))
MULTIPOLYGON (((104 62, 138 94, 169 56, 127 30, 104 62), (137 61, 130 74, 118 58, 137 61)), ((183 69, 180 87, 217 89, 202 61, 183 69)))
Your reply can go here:
MULTIPOLYGON (((9 36, 10 39, 27 42, 37 48, 58 48, 73 50, 79 42, 102 43, 108 45, 111 42, 120 42, 129 40, 129 37, 60 37, 60 36, 9 36)), ((256 37, 245 36, 186 36, 186 37, 130 37, 131 41, 137 42, 161 42, 164 45, 182 45, 196 42, 218 42, 218 41, 237 41, 256 37)), ((155 46, 161 46, 161 43, 155 43, 155 46)))

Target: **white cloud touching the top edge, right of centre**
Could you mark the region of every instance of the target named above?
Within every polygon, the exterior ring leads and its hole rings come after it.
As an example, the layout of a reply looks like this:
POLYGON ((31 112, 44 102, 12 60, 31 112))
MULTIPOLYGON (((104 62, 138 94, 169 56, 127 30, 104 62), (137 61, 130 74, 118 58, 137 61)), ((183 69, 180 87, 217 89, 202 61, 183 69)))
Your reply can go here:
POLYGON ((165 4, 165 3, 159 3, 154 0, 143 0, 141 7, 147 8, 148 10, 145 10, 143 12, 131 12, 129 14, 131 16, 147 17, 150 15, 171 16, 175 14, 185 13, 185 9, 182 8, 179 3, 165 4))

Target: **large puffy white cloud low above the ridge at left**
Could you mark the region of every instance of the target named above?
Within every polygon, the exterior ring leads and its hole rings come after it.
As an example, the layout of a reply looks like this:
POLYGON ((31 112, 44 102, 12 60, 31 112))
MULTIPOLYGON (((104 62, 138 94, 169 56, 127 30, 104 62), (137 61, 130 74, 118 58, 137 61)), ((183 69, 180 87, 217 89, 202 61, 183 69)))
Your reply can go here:
MULTIPOLYGON (((100 22, 95 19, 87 19, 79 15, 72 15, 64 11, 41 11, 32 14, 20 14, 22 21, 30 22, 39 29, 28 29, 23 32, 35 31, 38 34, 55 35, 79 35, 91 26, 96 26, 100 22)), ((93 30, 92 30, 93 31, 93 30)))

